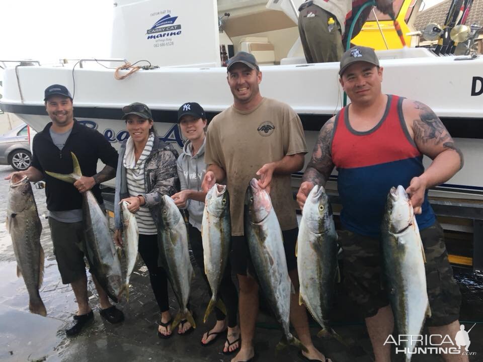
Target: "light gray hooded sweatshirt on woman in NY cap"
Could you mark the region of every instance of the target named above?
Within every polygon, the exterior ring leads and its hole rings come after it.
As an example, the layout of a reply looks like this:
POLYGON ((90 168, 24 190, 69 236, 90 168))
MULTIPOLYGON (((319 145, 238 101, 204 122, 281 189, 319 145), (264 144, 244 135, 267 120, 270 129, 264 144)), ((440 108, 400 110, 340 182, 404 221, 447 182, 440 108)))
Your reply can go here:
MULTIPOLYGON (((193 146, 191 141, 187 141, 183 147, 183 153, 180 154, 177 161, 178 175, 180 177, 181 190, 201 191, 201 183, 206 173, 205 164, 205 140, 198 152, 192 156, 193 146)), ((188 200, 186 210, 190 215, 189 222, 193 227, 201 230, 201 220, 203 218, 203 210, 205 204, 196 200, 188 200)))

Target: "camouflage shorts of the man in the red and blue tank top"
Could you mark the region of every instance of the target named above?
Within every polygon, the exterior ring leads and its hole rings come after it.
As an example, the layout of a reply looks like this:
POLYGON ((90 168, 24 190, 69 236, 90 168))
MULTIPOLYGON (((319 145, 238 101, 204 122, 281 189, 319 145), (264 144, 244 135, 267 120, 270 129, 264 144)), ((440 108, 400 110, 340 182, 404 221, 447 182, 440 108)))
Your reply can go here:
MULTIPOLYGON (((343 249, 344 286, 359 305, 364 318, 374 316, 389 304, 381 279, 382 256, 380 240, 358 235, 348 230, 338 232, 343 249)), ((431 308, 428 326, 449 324, 459 318, 461 294, 448 261, 443 229, 436 222, 421 230, 426 253, 426 284, 431 308)))

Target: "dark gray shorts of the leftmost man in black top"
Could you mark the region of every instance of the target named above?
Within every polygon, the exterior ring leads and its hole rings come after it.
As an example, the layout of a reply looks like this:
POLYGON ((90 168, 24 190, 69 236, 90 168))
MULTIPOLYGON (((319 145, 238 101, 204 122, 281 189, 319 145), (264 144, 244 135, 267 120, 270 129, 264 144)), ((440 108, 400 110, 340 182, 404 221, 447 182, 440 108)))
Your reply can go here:
POLYGON ((86 275, 84 223, 64 223, 49 217, 49 225, 62 283, 76 282, 86 275))

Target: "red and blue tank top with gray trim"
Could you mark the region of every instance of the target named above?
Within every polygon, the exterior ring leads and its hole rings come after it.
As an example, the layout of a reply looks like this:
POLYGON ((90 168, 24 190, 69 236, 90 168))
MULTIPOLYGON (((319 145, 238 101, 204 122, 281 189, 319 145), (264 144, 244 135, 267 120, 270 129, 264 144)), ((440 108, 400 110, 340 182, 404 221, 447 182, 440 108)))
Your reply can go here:
MULTIPOLYGON (((347 230, 379 237, 390 188, 408 188, 424 172, 423 155, 408 132, 402 106, 403 98, 388 95, 382 119, 365 132, 351 127, 349 106, 336 116, 331 153, 339 172, 341 223, 347 230)), ((427 191, 416 220, 420 229, 436 221, 427 191)))

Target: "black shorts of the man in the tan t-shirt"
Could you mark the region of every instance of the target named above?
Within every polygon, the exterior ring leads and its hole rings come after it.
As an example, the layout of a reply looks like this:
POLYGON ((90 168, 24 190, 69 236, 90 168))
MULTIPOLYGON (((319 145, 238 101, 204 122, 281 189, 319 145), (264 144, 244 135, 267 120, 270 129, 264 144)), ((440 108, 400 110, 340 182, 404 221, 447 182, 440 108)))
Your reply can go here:
MULTIPOLYGON (((297 257, 295 256, 295 245, 297 244, 298 228, 282 231, 285 259, 289 272, 297 268, 297 257)), ((231 270, 236 274, 255 276, 255 267, 250 257, 250 249, 245 236, 231 237, 230 251, 231 270), (248 272, 248 273, 247 273, 248 272)))

